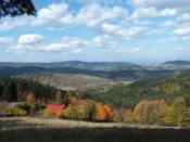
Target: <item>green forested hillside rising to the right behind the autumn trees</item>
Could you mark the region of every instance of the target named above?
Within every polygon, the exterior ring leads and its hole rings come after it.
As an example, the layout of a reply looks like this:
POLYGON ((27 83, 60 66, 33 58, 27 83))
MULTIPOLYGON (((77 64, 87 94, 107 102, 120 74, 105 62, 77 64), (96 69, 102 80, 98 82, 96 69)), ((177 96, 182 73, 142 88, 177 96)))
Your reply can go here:
POLYGON ((115 106, 135 107, 142 100, 164 99, 172 104, 178 96, 188 99, 190 95, 190 72, 165 78, 143 79, 129 86, 116 85, 87 91, 85 99, 112 103, 115 106))

